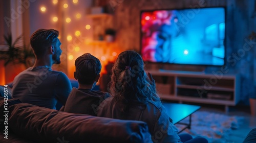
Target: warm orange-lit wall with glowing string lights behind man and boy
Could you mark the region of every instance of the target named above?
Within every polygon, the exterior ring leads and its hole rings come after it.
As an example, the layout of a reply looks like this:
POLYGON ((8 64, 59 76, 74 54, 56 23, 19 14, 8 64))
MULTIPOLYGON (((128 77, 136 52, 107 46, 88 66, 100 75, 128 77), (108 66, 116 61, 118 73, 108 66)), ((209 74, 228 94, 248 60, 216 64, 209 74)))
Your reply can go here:
POLYGON ((53 28, 60 32, 61 64, 53 65, 53 69, 63 71, 70 79, 74 79, 75 59, 84 53, 91 53, 100 59, 104 71, 104 65, 111 57, 108 47, 115 45, 95 42, 97 40, 95 33, 103 33, 105 29, 98 27, 98 22, 106 24, 109 20, 102 18, 95 20, 87 15, 87 10, 93 5, 92 0, 78 0, 76 3, 72 0, 57 1, 56 4, 53 2, 37 0, 29 8, 30 35, 39 28, 53 28), (64 8, 64 4, 68 7, 64 8), (41 7, 45 7, 46 11, 41 12, 41 7), (77 17, 77 14, 80 15, 77 17), (53 21, 53 17, 57 17, 58 20, 53 21), (70 18, 69 22, 66 21, 67 18, 70 18), (86 29, 87 25, 91 28, 86 29))

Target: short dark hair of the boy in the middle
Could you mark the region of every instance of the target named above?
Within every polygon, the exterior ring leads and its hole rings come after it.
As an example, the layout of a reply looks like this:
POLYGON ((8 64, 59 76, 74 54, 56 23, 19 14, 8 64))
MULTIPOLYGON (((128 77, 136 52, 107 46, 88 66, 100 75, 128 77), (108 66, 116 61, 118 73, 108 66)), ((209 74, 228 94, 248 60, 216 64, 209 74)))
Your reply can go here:
POLYGON ((83 54, 75 61, 76 76, 79 84, 93 84, 99 75, 101 64, 98 58, 90 53, 83 54))

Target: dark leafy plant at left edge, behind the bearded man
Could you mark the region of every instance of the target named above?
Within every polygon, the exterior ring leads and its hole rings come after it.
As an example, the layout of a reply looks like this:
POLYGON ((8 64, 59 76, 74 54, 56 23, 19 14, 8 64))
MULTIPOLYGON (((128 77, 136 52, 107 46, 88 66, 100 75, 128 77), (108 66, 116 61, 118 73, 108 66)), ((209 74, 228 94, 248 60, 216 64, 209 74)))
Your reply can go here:
POLYGON ((31 48, 23 42, 23 37, 17 37, 14 42, 11 34, 4 36, 5 43, 0 45, 0 60, 5 61, 5 66, 9 63, 24 64, 30 67, 34 64, 34 54, 31 48))

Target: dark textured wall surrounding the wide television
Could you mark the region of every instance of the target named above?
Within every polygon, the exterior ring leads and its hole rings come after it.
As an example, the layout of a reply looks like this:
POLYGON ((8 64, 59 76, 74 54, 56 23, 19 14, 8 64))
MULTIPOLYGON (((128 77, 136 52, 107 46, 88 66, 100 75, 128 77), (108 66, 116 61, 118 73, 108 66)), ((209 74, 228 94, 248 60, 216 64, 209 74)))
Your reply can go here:
MULTIPOLYGON (((256 53, 255 43, 246 45, 248 35, 255 29, 255 17, 252 17, 255 1, 227 0, 227 1, 110 1, 110 7, 114 10, 114 27, 118 31, 117 42, 122 50, 140 49, 140 11, 153 9, 173 8, 200 8, 224 6, 227 10, 226 16, 226 69, 227 73, 239 74, 241 76, 241 104, 248 105, 249 96, 255 95, 256 88, 256 53), (112 3, 111 3, 112 2, 112 3), (114 3, 113 3, 114 2, 114 3), (246 45, 246 46, 244 46, 246 45), (253 56, 254 55, 254 56, 253 56)), ((177 67, 180 68, 180 67, 177 67)), ((181 69, 184 66, 181 67, 181 69)), ((196 67, 198 68, 198 67, 196 67)), ((205 68, 206 73, 221 71, 223 67, 205 68)), ((219 72, 220 73, 220 72, 219 72)))

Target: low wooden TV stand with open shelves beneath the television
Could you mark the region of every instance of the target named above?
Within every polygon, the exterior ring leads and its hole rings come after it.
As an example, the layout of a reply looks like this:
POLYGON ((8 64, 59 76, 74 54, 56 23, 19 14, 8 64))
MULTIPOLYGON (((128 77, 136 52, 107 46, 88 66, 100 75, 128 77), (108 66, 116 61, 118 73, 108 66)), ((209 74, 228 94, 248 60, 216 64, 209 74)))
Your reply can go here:
POLYGON ((239 102, 238 75, 215 75, 190 71, 151 70, 161 99, 229 106, 239 102))

